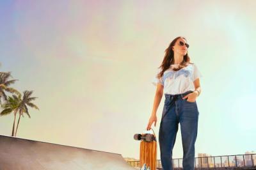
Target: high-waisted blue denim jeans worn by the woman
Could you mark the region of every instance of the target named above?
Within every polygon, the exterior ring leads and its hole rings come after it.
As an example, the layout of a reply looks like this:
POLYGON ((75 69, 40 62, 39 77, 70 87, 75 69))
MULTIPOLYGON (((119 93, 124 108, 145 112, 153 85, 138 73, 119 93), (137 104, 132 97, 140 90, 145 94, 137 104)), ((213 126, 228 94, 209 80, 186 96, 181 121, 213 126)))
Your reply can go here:
POLYGON ((165 95, 163 114, 159 128, 159 146, 161 163, 164 170, 173 169, 172 150, 175 144, 178 125, 182 136, 184 170, 195 167, 195 141, 198 125, 198 108, 196 102, 182 99, 193 91, 179 95, 165 95))

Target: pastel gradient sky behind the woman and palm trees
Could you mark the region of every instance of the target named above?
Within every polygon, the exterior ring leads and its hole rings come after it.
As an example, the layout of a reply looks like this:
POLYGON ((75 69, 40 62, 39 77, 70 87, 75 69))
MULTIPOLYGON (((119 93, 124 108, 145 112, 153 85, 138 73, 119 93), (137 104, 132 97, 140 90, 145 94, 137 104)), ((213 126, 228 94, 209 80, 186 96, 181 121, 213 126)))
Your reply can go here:
MULTIPOLYGON (((185 36, 203 77, 197 153, 256 150, 256 1, 0 1, 1 72, 35 104, 17 137, 139 158, 164 50, 185 36)), ((158 137, 164 97, 157 111, 158 137)), ((0 117, 10 135, 13 115, 0 117)), ((158 145, 159 155, 159 145, 158 145)), ((182 158, 180 130, 173 158, 182 158)))

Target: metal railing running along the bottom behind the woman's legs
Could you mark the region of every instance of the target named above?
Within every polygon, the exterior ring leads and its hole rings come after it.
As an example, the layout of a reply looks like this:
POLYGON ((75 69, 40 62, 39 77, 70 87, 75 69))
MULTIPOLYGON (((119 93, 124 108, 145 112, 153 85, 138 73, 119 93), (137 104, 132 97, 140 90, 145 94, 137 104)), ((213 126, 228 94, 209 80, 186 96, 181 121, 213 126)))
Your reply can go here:
MULTIPOLYGON (((182 158, 174 158, 173 169, 182 169, 182 158)), ((127 161, 133 167, 140 167, 140 161, 127 161)), ((195 169, 256 169, 256 154, 222 155, 214 157, 196 157, 195 169)), ((157 169, 161 169, 161 160, 157 160, 157 169)))

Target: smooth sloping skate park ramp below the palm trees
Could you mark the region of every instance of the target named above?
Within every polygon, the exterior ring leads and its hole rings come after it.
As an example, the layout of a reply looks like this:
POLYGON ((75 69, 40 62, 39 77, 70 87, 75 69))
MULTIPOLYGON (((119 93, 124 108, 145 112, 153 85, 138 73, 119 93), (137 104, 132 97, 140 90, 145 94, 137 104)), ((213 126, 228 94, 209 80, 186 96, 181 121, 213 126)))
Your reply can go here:
POLYGON ((0 169, 124 169, 120 154, 0 135, 0 169))

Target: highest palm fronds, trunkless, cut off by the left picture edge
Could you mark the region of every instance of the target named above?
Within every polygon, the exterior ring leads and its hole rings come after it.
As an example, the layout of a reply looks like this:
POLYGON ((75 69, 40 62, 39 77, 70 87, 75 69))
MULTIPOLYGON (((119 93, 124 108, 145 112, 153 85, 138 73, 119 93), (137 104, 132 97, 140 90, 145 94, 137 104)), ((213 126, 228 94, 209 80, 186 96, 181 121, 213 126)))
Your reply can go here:
POLYGON ((0 72, 0 105, 2 105, 1 99, 3 98, 4 101, 7 101, 7 95, 6 91, 9 93, 15 93, 17 95, 20 95, 19 91, 14 88, 10 88, 11 84, 15 83, 17 80, 8 80, 10 77, 12 77, 11 72, 0 72))

